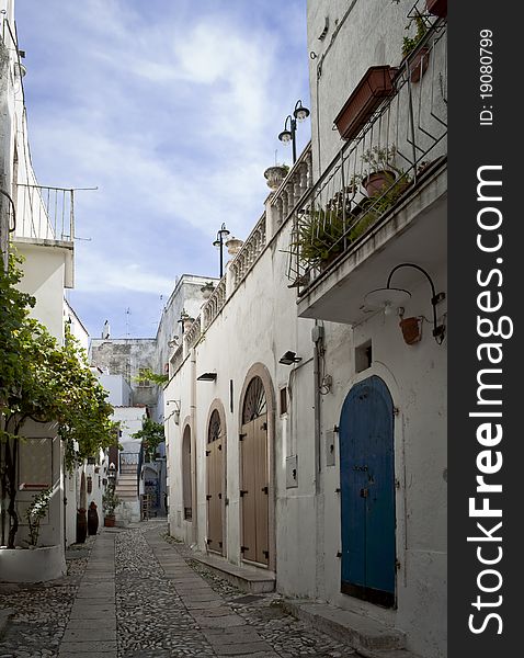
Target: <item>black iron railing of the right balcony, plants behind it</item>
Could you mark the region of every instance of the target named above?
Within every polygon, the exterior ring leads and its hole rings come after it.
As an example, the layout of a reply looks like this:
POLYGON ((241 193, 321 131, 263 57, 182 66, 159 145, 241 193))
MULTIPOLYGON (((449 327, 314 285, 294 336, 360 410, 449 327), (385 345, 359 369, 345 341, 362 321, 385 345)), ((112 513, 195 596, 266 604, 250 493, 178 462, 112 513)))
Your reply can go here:
POLYGON ((447 155, 446 23, 430 25, 391 90, 293 208, 288 277, 305 294, 447 155))

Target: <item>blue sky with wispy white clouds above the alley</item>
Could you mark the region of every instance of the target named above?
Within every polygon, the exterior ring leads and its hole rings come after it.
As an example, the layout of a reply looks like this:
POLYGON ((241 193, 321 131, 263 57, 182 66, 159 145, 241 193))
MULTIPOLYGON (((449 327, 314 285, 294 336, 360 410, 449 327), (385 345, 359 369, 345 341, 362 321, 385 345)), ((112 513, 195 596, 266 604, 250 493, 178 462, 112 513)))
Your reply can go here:
POLYGON ((76 196, 69 299, 93 337, 155 336, 178 276, 218 274, 221 223, 259 219, 275 150, 291 163, 306 0, 16 0, 16 27, 39 184, 99 188, 76 196))

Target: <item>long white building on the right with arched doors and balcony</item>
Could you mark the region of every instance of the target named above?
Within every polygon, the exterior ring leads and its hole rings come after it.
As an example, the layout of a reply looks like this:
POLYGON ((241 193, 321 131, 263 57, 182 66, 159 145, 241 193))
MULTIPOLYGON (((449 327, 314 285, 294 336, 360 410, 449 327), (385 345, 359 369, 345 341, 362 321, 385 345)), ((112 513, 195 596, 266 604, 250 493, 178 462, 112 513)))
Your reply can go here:
POLYGON ((441 657, 446 21, 316 1, 308 35, 311 145, 171 359, 170 532, 441 657))

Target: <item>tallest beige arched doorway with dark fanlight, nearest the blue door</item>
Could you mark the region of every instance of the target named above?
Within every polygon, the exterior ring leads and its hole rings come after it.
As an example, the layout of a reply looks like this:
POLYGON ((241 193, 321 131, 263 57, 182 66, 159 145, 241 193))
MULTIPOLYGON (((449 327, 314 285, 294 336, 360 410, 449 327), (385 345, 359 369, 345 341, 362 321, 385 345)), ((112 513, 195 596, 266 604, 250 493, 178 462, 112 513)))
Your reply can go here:
POLYGON ((242 544, 246 560, 270 561, 267 401, 263 382, 254 376, 244 394, 240 433, 242 544))

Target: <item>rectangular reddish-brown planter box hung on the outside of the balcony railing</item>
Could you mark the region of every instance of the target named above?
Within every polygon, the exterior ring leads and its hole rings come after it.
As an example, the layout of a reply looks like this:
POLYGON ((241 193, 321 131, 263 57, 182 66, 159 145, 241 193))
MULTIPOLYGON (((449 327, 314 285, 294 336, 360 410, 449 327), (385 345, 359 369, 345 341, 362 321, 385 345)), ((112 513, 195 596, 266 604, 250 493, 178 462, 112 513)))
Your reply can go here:
POLYGON ((392 79, 397 69, 372 66, 353 90, 334 124, 343 139, 353 139, 380 104, 394 92, 392 79))

